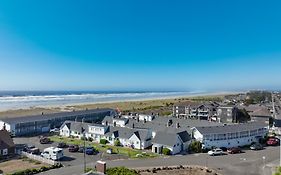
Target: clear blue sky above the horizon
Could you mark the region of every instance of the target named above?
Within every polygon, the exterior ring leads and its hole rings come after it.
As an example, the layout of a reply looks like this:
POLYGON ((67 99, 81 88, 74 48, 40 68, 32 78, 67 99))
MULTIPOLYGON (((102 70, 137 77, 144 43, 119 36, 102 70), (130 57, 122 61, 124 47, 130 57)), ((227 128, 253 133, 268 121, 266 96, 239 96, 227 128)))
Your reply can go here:
POLYGON ((0 90, 281 88, 281 1, 0 1, 0 90))

